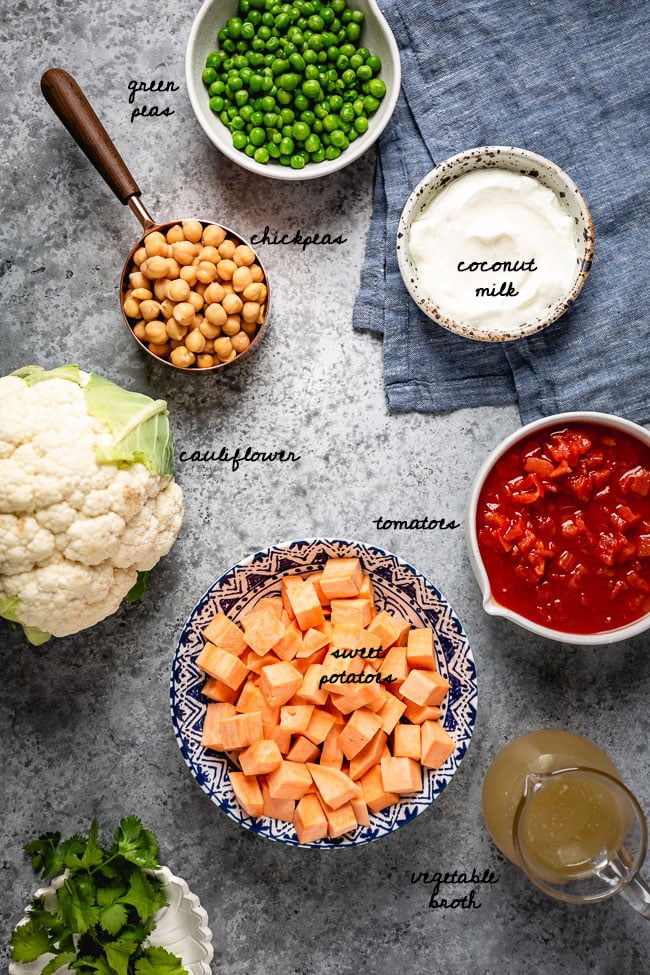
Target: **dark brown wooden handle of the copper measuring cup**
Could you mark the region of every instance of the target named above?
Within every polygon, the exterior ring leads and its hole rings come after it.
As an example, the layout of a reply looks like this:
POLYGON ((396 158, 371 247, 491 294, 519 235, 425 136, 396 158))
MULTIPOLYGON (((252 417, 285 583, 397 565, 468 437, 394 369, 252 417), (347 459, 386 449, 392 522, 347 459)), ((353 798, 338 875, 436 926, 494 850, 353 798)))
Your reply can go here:
POLYGON ((50 68, 41 78, 45 100, 122 203, 139 196, 138 184, 72 75, 50 68))

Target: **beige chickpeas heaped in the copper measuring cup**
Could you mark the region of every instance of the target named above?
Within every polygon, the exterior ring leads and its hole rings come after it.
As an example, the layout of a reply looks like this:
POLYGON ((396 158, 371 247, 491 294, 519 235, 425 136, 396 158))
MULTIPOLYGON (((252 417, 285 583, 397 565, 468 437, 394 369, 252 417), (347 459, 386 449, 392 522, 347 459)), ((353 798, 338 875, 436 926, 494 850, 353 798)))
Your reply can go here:
POLYGON ((147 234, 129 269, 124 314, 154 355, 183 369, 231 362, 266 318, 255 251, 217 224, 184 220, 147 234))

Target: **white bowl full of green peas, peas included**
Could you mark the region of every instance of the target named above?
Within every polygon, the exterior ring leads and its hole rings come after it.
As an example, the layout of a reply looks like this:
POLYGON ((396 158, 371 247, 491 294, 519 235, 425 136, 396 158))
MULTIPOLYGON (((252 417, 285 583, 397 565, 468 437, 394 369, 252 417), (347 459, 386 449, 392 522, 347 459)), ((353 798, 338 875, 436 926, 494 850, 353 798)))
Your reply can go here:
POLYGON ((194 113, 244 169, 316 179, 379 138, 400 88, 375 0, 205 0, 186 52, 194 113))

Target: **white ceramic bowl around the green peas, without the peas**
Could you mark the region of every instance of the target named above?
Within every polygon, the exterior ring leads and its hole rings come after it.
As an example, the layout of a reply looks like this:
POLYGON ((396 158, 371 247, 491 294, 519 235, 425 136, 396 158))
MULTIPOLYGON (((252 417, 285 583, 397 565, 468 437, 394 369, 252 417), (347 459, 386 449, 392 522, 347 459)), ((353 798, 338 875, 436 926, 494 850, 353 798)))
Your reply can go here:
POLYGON ((351 0, 350 5, 354 9, 363 10, 366 15, 360 42, 381 58, 382 69, 379 77, 386 84, 386 94, 375 114, 368 120, 368 131, 350 143, 338 159, 325 159, 321 163, 307 163, 304 169, 291 169, 290 166, 281 166, 273 160, 265 164, 257 163, 244 152, 235 149, 231 132, 210 110, 207 88, 201 80, 205 59, 211 51, 217 49, 217 34, 228 18, 237 13, 238 4, 237 0, 205 0, 192 24, 185 52, 187 91, 194 114, 208 139, 238 166, 243 166, 244 169, 259 176, 270 176, 272 179, 318 179, 320 176, 329 176, 349 166, 377 141, 393 114, 399 95, 401 79, 399 51, 393 33, 375 0, 351 0))

